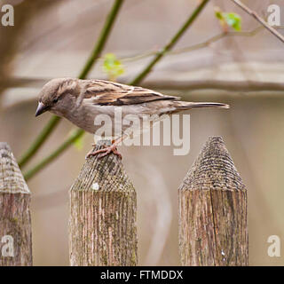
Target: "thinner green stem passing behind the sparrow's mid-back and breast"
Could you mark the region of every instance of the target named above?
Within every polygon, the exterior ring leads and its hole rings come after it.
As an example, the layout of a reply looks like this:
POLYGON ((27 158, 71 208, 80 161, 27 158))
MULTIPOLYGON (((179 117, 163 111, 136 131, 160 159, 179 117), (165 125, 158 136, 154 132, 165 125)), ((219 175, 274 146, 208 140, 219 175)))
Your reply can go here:
MULTIPOLYGON (((197 8, 193 11, 193 13, 189 16, 188 20, 185 22, 185 24, 178 29, 177 34, 172 37, 170 40, 170 43, 166 44, 164 48, 162 48, 161 51, 158 51, 154 59, 142 70, 141 73, 138 74, 138 76, 130 82, 130 84, 138 84, 140 83, 146 75, 148 75, 154 65, 162 59, 162 57, 167 53, 167 51, 170 51, 170 49, 177 43, 178 39, 185 33, 185 30, 191 26, 193 21, 196 19, 196 17, 199 15, 201 10, 204 8, 205 4, 207 4, 209 0, 203 0, 201 4, 197 6, 197 8)), ((42 170, 45 165, 47 165, 49 162, 51 162, 53 159, 55 159, 59 154, 62 154, 64 150, 67 149, 68 146, 70 146, 76 138, 81 137, 83 135, 84 131, 81 129, 75 130, 74 132, 74 139, 67 138, 67 140, 59 146, 54 152, 52 152, 49 156, 43 159, 43 161, 36 164, 34 168, 31 170, 28 170, 26 174, 24 174, 24 177, 26 180, 28 180, 30 177, 33 177, 39 170, 42 170)))

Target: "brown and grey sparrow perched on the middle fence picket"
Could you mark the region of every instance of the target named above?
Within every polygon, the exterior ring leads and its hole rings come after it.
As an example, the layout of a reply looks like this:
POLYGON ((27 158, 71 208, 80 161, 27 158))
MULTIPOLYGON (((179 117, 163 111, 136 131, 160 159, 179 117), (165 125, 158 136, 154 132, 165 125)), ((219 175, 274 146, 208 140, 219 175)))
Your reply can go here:
MULTIPOLYGON (((79 128, 95 134, 100 125, 94 120, 99 114, 107 114, 112 122, 112 144, 98 151, 91 151, 87 157, 99 154, 99 158, 114 153, 120 158, 117 145, 128 135, 130 125, 122 125, 120 136, 114 135, 115 108, 121 107, 122 118, 127 114, 156 117, 174 114, 195 107, 229 108, 228 105, 213 102, 186 102, 179 97, 163 95, 142 87, 130 86, 105 80, 80 80, 76 78, 56 78, 44 84, 38 96, 36 116, 46 111, 66 118, 79 128), (154 115, 155 114, 155 115, 154 115)), ((129 123, 130 124, 130 123, 129 123)), ((93 145, 94 146, 94 145, 93 145)))

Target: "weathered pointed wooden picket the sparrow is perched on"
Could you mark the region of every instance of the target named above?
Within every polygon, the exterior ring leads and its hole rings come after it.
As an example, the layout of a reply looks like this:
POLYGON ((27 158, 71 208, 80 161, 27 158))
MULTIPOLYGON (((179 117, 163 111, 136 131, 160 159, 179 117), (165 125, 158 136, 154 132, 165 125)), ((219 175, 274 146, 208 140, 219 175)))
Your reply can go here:
POLYGON ((136 265, 136 211, 121 160, 114 154, 87 159, 70 189, 70 264, 136 265))

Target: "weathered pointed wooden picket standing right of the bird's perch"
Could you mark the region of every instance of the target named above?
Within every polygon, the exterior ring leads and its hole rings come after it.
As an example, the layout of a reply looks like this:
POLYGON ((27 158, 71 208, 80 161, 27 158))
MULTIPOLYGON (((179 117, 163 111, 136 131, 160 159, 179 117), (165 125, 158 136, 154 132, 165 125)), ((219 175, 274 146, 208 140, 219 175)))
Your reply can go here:
POLYGON ((178 189, 183 265, 248 265, 247 190, 221 137, 211 137, 178 189))

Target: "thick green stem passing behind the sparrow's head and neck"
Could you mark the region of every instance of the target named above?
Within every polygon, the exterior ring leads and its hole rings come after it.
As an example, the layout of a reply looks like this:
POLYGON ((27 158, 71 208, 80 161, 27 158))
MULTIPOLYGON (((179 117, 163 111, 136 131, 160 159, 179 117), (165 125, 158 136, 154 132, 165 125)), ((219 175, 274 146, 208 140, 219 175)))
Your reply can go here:
MULTIPOLYGON (((95 48, 93 49, 93 51, 91 51, 89 59, 84 65, 80 75, 78 76, 79 79, 84 79, 86 75, 88 75, 88 73, 90 72, 91 67, 93 67, 94 63, 97 61, 97 59, 99 59, 100 53, 106 44, 107 37, 109 36, 112 27, 114 26, 114 20, 120 10, 120 7, 122 6, 122 3, 123 0, 114 1, 114 5, 106 18, 105 25, 100 32, 99 39, 95 45, 95 48)), ((37 136, 35 142, 28 148, 28 151, 20 158, 20 167, 24 166, 36 154, 38 149, 43 146, 43 143, 46 141, 47 138, 49 138, 51 132, 59 124, 60 119, 61 118, 59 116, 55 115, 51 117, 50 121, 43 128, 42 132, 37 136)))

